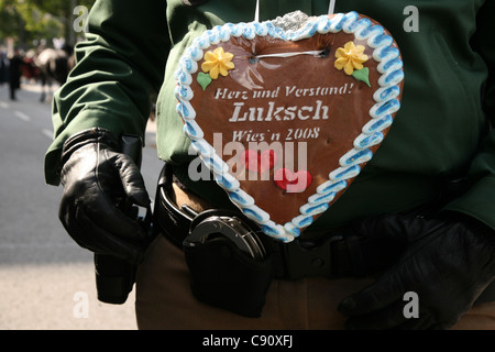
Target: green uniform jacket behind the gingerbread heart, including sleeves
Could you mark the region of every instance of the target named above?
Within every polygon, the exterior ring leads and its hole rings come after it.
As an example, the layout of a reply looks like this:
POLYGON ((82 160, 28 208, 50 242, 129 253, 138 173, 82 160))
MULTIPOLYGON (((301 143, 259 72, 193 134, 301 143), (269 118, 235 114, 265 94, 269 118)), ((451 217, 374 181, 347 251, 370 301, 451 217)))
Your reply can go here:
MULTIPOLYGON (((228 198, 209 182, 187 177, 188 140, 175 112, 174 73, 193 40, 217 24, 254 20, 255 0, 98 0, 77 66, 57 91, 55 140, 45 157, 48 184, 59 183, 61 150, 91 127, 144 134, 150 97, 157 97, 158 156, 176 165, 191 189, 217 206, 228 198)), ((261 0, 260 21, 294 10, 328 12, 328 0, 261 0)), ((374 155, 344 195, 314 224, 340 226, 356 217, 411 209, 436 197, 439 183, 468 174, 470 190, 447 208, 495 229, 495 1, 338 0, 336 12, 356 11, 382 23, 400 47, 402 109, 374 155), (407 31, 409 6, 418 31, 407 31), (407 8, 407 9, 406 9, 407 8), (406 22, 406 26, 405 26, 406 22)), ((211 182, 212 183, 212 182, 211 182)))

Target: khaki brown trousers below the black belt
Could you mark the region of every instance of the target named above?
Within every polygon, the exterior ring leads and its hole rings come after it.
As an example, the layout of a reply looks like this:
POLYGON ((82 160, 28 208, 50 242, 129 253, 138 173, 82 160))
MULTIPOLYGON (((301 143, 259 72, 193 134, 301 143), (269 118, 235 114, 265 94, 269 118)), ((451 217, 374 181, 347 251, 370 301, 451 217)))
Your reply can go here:
MULTIPOLYGON (((261 318, 244 318, 199 302, 189 289, 184 253, 158 235, 136 275, 138 328, 143 330, 341 330, 337 306, 372 279, 275 279, 261 318)), ((471 309, 453 329, 495 330, 495 302, 471 309)))

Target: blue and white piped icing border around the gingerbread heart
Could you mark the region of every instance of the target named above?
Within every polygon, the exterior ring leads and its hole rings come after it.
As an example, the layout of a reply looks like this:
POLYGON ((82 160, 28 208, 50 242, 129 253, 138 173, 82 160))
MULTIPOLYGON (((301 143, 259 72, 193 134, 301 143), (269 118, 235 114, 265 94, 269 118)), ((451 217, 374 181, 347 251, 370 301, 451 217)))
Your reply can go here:
POLYGON ((361 163, 370 161, 373 153, 369 147, 383 141, 381 131, 393 123, 392 113, 400 108, 398 96, 400 87, 398 84, 404 79, 403 61, 398 48, 392 46, 394 40, 385 33, 380 24, 374 24, 367 18, 360 18, 355 11, 349 13, 337 13, 332 18, 320 15, 312 19, 301 29, 285 32, 275 26, 271 21, 250 23, 226 23, 206 31, 195 38, 193 44, 185 51, 175 73, 177 88, 175 96, 178 100, 177 113, 184 121, 184 132, 191 140, 191 146, 199 154, 204 163, 213 173, 217 183, 228 191, 232 202, 250 219, 256 221, 262 231, 276 240, 290 242, 301 230, 314 222, 318 216, 329 208, 330 201, 339 191, 348 187, 346 179, 360 174, 361 163), (296 216, 284 226, 277 224, 270 219, 270 215, 255 205, 254 199, 240 188, 239 180, 229 174, 228 165, 215 154, 215 148, 204 140, 204 133, 196 123, 196 112, 189 100, 194 98, 189 85, 193 81, 191 74, 198 70, 197 62, 204 56, 204 50, 220 42, 227 42, 231 36, 252 40, 256 35, 270 35, 284 41, 298 41, 310 37, 316 33, 345 33, 354 34, 356 40, 367 41, 373 48, 373 59, 378 62, 378 88, 373 98, 376 103, 370 110, 370 121, 362 128, 362 133, 353 142, 353 148, 342 155, 340 167, 329 173, 329 179, 317 187, 316 194, 308 197, 308 202, 300 207, 300 215, 296 216))

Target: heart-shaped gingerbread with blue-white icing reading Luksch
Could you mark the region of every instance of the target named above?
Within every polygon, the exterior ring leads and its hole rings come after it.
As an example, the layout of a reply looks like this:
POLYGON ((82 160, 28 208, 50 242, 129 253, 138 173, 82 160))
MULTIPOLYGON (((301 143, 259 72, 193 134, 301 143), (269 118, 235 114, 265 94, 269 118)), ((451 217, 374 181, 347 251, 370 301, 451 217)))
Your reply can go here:
POLYGON ((392 35, 356 12, 216 26, 180 58, 177 112, 199 157, 262 230, 292 241, 372 158, 400 107, 392 35))

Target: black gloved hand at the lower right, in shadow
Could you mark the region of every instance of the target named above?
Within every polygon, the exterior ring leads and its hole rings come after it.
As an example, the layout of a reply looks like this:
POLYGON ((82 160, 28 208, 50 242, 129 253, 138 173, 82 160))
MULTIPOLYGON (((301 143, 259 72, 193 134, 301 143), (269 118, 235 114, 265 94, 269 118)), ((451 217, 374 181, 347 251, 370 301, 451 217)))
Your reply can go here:
POLYGON ((398 262, 371 286, 344 298, 348 329, 447 329, 495 277, 495 232, 466 216, 425 219, 382 216, 355 227, 363 235, 404 242, 398 262), (419 317, 407 319, 407 292, 419 317))

